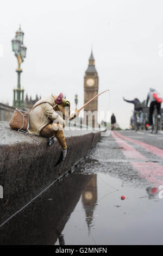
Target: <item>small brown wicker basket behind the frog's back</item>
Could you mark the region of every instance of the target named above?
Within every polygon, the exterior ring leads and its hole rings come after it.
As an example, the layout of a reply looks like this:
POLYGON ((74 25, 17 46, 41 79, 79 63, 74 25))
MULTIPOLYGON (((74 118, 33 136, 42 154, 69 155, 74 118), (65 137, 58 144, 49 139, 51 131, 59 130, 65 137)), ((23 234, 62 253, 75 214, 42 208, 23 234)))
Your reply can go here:
POLYGON ((10 120, 10 127, 14 130, 26 131, 28 127, 28 112, 22 111, 21 109, 15 109, 14 114, 10 120))

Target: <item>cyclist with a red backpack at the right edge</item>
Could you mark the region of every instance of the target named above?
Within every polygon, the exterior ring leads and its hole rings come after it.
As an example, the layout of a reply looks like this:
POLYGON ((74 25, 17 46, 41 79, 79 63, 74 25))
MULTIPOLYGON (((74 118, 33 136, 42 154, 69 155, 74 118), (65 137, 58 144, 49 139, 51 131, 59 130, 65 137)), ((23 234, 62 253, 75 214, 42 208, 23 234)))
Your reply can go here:
POLYGON ((147 95, 147 101, 146 101, 146 107, 148 107, 148 101, 150 101, 148 129, 152 129, 154 106, 156 105, 156 108, 158 111, 158 118, 161 118, 161 102, 162 102, 162 99, 159 96, 159 93, 154 88, 149 88, 149 93, 147 95))

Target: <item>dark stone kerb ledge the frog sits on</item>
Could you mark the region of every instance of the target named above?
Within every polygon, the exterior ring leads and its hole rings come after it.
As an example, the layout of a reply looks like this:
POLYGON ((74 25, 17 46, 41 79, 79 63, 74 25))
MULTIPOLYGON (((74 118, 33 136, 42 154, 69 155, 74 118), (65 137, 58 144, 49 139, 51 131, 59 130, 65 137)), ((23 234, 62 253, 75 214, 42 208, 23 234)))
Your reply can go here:
POLYGON ((100 132, 65 131, 67 156, 54 167, 61 147, 57 140, 51 148, 47 139, 26 135, 0 122, 0 185, 4 198, 0 199, 0 225, 70 169, 96 145, 100 132))

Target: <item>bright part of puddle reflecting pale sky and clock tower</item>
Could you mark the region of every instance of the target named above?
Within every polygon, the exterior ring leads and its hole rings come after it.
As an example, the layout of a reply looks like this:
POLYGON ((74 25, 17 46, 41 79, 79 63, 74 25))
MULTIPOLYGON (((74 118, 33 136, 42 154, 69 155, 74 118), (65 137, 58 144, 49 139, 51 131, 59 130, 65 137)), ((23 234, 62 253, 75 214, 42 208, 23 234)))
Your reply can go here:
POLYGON ((120 179, 93 174, 62 235, 66 245, 161 244, 162 207, 146 188, 123 186, 120 179), (122 194, 126 200, 121 200, 122 194))

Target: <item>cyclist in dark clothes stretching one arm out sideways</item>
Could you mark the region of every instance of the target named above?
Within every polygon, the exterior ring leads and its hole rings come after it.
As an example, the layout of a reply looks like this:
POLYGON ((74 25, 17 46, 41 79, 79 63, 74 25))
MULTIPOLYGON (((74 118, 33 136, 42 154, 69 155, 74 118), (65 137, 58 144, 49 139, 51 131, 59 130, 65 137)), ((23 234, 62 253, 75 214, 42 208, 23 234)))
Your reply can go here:
POLYGON ((135 126, 135 124, 136 124, 136 114, 137 113, 139 113, 139 121, 141 124, 143 121, 143 106, 142 106, 141 102, 137 98, 135 98, 134 100, 126 100, 123 97, 123 100, 134 104, 133 125, 135 126))

